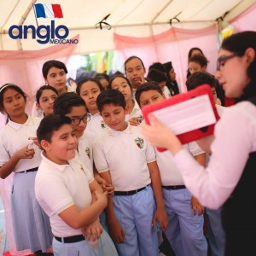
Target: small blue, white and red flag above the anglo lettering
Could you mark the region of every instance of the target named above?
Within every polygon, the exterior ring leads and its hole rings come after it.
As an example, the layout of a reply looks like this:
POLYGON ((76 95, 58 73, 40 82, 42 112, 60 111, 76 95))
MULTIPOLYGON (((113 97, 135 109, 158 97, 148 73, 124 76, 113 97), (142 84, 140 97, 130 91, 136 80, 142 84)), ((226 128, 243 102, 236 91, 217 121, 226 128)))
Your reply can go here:
POLYGON ((63 18, 61 4, 36 3, 34 7, 37 18, 63 18))

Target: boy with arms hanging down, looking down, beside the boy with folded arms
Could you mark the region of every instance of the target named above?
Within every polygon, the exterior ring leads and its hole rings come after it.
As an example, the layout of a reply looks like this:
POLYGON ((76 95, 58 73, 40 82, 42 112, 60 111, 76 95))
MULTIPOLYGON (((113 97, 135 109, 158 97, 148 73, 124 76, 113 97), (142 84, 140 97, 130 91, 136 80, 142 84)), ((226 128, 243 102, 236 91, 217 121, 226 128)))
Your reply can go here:
POLYGON ((107 207, 110 235, 120 256, 158 255, 153 226, 157 219, 166 230, 167 218, 154 148, 139 127, 125 122, 125 97, 119 90, 103 90, 96 103, 108 125, 93 146, 96 169, 115 188, 107 207))

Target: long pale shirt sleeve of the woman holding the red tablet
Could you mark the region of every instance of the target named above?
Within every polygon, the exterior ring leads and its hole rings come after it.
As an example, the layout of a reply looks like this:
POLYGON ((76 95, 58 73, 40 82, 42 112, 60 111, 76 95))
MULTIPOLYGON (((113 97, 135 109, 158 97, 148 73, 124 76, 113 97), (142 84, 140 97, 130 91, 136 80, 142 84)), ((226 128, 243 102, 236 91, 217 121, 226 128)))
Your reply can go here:
POLYGON ((248 154, 256 151, 256 108, 253 103, 240 102, 225 108, 214 135, 205 172, 185 150, 179 151, 173 161, 182 172, 186 187, 201 204, 218 209, 239 182, 248 154))

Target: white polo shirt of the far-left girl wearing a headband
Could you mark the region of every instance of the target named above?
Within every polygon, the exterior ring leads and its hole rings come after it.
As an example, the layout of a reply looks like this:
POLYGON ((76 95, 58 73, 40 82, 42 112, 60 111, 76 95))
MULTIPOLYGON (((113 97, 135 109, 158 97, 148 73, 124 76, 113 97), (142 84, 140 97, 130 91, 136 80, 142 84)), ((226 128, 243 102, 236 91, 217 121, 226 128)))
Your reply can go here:
MULTIPOLYGON (((40 122, 40 118, 29 115, 24 124, 17 124, 9 119, 8 124, 0 130, 0 166, 6 164, 20 148, 31 143, 29 137, 37 137, 40 122)), ((24 172, 40 165, 41 150, 38 147, 33 148, 35 149, 33 158, 20 159, 13 172, 24 172)))

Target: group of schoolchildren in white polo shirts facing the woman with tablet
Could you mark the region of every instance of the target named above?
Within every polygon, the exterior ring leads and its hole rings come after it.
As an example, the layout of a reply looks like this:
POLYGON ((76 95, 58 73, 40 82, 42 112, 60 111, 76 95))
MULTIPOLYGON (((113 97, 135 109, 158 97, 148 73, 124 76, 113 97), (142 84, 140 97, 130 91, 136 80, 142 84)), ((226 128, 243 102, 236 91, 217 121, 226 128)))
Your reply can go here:
MULTIPOLYGON (((108 90, 85 78, 74 92, 66 84, 67 67, 46 61, 48 85, 37 91, 32 115, 19 86, 0 88, 0 111, 7 116, 0 130, 0 177, 15 172, 11 207, 18 251, 43 255, 52 246, 60 256, 156 256, 163 231, 175 255, 207 255, 205 208, 185 187, 172 154, 158 152, 140 131, 141 108, 166 94, 147 82, 137 56, 125 61, 125 73, 114 76, 108 90)), ((216 94, 212 75, 189 79, 191 90, 207 83, 216 94)), ((205 164, 196 143, 183 147, 205 164)))

